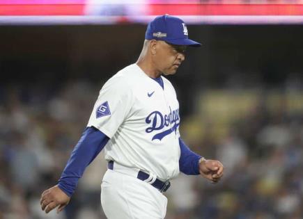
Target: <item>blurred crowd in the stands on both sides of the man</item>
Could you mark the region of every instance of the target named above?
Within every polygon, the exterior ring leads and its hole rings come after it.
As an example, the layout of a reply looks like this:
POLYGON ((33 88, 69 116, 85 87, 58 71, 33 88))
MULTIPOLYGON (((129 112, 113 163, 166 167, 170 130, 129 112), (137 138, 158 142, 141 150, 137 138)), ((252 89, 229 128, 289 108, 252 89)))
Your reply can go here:
MULTIPOLYGON (((79 81, 56 89, 0 88, 1 219, 105 218, 100 207, 106 170, 102 154, 85 172, 63 213, 46 215, 39 200, 59 179, 99 90, 100 85, 79 81)), ((199 106, 181 117, 187 145, 206 159, 222 161, 226 172, 219 184, 182 174, 173 179, 166 193, 166 218, 302 219, 303 111, 288 109, 287 101, 272 109, 260 98, 219 126, 207 120, 199 106)))

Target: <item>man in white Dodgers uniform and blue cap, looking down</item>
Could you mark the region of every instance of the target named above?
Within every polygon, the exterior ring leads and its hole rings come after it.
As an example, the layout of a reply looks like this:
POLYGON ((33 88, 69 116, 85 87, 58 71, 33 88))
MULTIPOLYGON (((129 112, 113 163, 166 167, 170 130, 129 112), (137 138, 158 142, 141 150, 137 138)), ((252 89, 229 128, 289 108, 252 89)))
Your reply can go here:
POLYGON ((180 171, 219 181, 222 163, 203 159, 180 138, 176 92, 162 76, 176 73, 187 46, 201 44, 188 39, 181 19, 164 15, 148 24, 137 63, 104 84, 59 184, 42 193, 43 211, 56 206, 62 211, 103 147, 109 170, 102 180, 101 203, 109 219, 164 218, 162 193, 180 171))

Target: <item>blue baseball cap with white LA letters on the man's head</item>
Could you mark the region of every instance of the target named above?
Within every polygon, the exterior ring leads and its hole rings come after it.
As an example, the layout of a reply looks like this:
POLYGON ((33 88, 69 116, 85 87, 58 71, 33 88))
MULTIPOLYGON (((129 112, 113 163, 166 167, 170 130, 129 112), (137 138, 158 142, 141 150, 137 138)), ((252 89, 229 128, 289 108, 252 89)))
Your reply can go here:
POLYGON ((162 15, 148 24, 146 40, 164 40, 171 44, 201 47, 199 42, 189 40, 185 22, 178 17, 162 15))

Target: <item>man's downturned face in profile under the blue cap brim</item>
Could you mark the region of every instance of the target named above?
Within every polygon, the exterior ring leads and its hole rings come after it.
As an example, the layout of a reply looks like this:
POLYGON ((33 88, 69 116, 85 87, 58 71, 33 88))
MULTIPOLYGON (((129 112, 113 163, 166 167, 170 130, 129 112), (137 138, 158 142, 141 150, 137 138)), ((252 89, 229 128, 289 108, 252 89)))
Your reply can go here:
POLYGON ((154 64, 164 75, 175 74, 182 61, 185 60, 186 46, 169 44, 157 40, 155 44, 154 64))

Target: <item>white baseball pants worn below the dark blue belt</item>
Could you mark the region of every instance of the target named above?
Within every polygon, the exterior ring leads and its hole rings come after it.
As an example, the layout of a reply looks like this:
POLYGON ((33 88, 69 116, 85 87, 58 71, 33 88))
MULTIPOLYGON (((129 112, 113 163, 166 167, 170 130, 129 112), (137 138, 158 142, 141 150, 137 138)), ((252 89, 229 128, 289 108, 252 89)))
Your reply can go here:
POLYGON ((107 218, 163 219, 167 198, 134 177, 134 172, 117 171, 107 170, 101 184, 101 204, 107 218))

